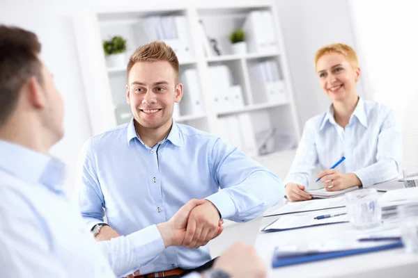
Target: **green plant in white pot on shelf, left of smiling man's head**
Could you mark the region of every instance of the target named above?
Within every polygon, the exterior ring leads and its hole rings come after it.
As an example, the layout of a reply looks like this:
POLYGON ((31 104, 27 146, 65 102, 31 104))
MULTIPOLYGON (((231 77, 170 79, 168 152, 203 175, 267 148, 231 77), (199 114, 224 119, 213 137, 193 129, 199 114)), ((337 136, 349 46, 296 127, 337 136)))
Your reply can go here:
POLYGON ((118 35, 103 42, 104 55, 108 67, 125 65, 126 40, 118 35))

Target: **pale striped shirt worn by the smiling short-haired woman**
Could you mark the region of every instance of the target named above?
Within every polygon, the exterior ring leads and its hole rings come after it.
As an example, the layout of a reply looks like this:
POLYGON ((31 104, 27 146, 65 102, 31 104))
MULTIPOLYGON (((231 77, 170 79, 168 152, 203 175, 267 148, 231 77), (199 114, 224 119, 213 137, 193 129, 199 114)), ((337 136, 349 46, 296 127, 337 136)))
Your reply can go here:
POLYGON ((309 186, 318 164, 322 170, 330 169, 342 156, 346 160, 336 170, 353 172, 363 187, 398 177, 402 140, 394 112, 360 98, 345 129, 335 122, 333 106, 311 117, 284 183, 309 186))

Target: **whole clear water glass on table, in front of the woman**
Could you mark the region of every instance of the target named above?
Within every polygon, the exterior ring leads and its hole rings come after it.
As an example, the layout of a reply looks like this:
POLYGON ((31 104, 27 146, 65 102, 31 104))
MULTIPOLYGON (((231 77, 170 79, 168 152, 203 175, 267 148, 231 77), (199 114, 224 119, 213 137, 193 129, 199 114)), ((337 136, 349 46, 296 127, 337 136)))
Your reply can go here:
POLYGON ((363 188, 346 193, 346 206, 350 223, 357 229, 378 227, 382 222, 382 210, 378 204, 378 190, 363 188))

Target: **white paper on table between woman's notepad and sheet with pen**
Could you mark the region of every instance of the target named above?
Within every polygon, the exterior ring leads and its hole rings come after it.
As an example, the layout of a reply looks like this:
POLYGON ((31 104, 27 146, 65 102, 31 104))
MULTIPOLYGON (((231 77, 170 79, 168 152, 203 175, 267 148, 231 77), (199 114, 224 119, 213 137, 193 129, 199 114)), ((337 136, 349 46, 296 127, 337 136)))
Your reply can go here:
POLYGON ((302 202, 288 202, 285 206, 265 214, 264 217, 289 213, 301 213, 307 211, 321 211, 328 208, 343 208, 344 206, 346 206, 345 197, 314 199, 302 202))

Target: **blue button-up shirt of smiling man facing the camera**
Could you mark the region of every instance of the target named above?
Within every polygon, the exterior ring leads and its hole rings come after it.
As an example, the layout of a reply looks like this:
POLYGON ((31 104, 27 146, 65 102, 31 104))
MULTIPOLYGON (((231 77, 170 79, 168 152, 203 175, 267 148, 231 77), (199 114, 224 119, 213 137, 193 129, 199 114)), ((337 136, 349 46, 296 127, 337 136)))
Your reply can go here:
MULTIPOLYGON (((122 235, 169 220, 192 198, 206 198, 222 218, 243 222, 284 196, 281 180, 237 148, 176 122, 153 147, 137 136, 133 119, 94 136, 84 145, 79 167, 77 195, 88 229, 103 222, 105 212, 122 235)), ((210 259, 208 246, 169 247, 139 270, 190 269, 210 259)))

